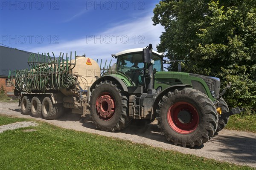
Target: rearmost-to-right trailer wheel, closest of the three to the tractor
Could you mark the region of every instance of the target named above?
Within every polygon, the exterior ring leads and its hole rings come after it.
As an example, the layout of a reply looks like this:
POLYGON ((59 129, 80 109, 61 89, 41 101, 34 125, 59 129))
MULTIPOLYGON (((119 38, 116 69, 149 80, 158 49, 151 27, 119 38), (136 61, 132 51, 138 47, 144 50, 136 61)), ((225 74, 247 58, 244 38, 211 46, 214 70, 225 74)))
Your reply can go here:
POLYGON ((63 107, 61 104, 52 104, 52 100, 49 97, 45 97, 42 101, 42 116, 47 120, 59 118, 63 113, 63 107))

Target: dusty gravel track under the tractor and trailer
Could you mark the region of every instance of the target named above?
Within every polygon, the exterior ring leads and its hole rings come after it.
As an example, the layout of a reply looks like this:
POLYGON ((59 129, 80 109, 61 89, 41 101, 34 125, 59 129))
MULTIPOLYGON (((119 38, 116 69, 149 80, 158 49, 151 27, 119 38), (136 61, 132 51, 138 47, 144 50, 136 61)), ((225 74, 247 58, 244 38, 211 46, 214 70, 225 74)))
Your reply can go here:
MULTIPOLYGON (((19 118, 32 118, 22 115, 16 103, 0 103, 0 114, 17 116, 19 118)), ((91 121, 81 121, 78 114, 64 114, 57 120, 44 120, 34 118, 63 127, 88 133, 95 133, 114 138, 121 138, 134 143, 148 144, 166 150, 175 150, 181 153, 212 158, 217 161, 226 161, 238 165, 247 165, 256 168, 256 134, 235 130, 221 130, 217 136, 212 137, 200 147, 181 147, 169 143, 157 128, 156 122, 148 125, 130 125, 128 128, 116 133, 100 131, 91 121)))

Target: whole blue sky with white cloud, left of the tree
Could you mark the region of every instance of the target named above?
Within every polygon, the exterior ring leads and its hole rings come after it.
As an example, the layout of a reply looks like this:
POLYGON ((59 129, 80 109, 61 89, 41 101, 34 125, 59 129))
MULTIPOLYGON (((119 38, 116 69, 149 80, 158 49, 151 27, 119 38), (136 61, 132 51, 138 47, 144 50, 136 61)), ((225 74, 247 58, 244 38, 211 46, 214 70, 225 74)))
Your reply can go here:
MULTIPOLYGON (((108 59, 160 43, 151 17, 159 0, 0 0, 0 43, 29 52, 70 52, 108 59)), ((2 45, 1 44, 1 45, 2 45)))

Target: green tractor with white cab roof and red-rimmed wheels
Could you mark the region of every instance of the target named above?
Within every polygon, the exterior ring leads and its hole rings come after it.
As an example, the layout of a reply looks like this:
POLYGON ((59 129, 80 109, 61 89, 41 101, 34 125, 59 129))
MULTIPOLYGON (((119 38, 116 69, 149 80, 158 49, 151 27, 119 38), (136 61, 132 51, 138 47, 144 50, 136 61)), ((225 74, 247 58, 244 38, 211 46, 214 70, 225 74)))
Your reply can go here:
MULTIPOLYGON (((186 72, 165 72, 162 53, 129 49, 112 57, 115 72, 98 78, 90 87, 90 116, 96 127, 117 131, 134 119, 158 121, 168 141, 183 147, 200 146, 227 124, 229 110, 220 93, 220 80, 186 72)), ((179 69, 180 70, 180 69, 179 69)))

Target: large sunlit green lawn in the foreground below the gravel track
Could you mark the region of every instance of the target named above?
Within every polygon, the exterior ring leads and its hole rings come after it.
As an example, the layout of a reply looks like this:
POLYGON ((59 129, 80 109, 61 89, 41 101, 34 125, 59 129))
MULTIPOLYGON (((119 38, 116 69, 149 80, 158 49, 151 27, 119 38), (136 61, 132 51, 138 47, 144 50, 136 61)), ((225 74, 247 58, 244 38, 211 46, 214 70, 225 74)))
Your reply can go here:
MULTIPOLYGON (((5 117, 2 120, 7 123, 10 122, 8 119, 13 118, 5 117)), ((39 124, 38 127, 23 128, 37 130, 33 132, 18 129, 0 133, 1 170, 252 169, 121 139, 66 130, 47 123, 39 124)))

